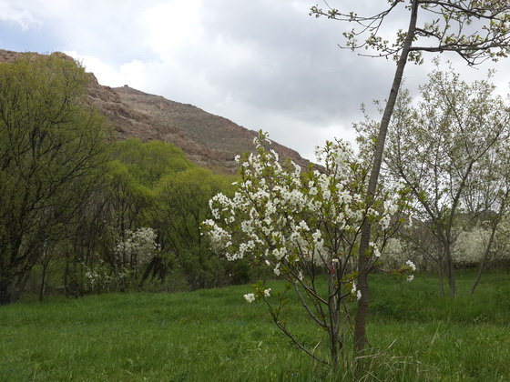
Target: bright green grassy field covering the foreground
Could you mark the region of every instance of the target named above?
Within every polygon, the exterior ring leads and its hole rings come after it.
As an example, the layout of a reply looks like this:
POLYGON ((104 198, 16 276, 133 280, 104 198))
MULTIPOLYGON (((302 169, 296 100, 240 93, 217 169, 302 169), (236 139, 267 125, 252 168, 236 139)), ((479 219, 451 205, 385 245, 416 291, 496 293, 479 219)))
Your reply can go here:
MULTIPOLYGON (((509 381, 510 275, 484 275, 474 297, 472 278, 452 299, 435 276, 372 276, 372 348, 335 376, 244 301, 250 286, 24 301, 0 307, 0 381, 509 381)), ((324 335, 301 310, 291 327, 314 347, 324 335)))

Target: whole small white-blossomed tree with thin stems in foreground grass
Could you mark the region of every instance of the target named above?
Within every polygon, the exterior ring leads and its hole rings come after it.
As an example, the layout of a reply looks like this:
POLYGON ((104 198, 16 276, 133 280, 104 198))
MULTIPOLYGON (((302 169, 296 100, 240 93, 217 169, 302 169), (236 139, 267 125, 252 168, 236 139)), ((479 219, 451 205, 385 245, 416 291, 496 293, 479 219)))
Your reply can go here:
MULTIPOLYGON (((392 223, 403 222, 397 216, 406 207, 406 191, 400 185, 379 191, 367 207, 367 163, 342 141, 318 149, 324 168, 305 172, 290 160, 281 165, 278 154, 267 149, 266 134, 260 132, 254 143, 257 154, 237 157, 241 181, 235 184, 235 195, 218 194, 210 200, 213 219, 204 227, 212 245, 230 260, 249 257, 289 281, 311 319, 327 332, 329 361, 302 345, 280 319, 281 295, 274 307, 270 289, 260 283, 245 298, 264 301, 283 333, 311 357, 334 367, 346 335, 352 333, 347 302, 361 297, 355 256, 362 221, 369 219, 374 227, 365 253, 373 266, 394 231, 392 223)), ((409 263, 398 271, 412 269, 409 263)))

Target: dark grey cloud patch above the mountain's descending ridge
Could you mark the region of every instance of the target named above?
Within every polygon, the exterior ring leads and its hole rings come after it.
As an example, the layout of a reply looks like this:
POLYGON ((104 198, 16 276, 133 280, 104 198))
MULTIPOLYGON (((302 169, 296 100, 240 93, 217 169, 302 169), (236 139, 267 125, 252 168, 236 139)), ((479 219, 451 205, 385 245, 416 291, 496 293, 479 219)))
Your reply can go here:
POLYGON ((228 89, 230 96, 260 109, 331 123, 357 114, 362 102, 372 101, 374 89, 391 84, 382 72, 384 64, 337 46, 340 23, 276 8, 268 12, 267 3, 257 2, 230 7, 229 12, 209 9, 209 35, 224 35, 256 56, 242 67, 222 70, 219 65, 209 73, 210 81, 228 89))

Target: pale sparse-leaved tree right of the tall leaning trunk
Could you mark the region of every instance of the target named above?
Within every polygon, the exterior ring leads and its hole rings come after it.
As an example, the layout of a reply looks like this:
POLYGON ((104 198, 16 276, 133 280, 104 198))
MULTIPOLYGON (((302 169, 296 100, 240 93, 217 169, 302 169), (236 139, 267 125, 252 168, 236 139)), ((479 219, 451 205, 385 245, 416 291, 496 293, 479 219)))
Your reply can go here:
POLYGON ((415 215, 441 243, 436 256, 440 279, 445 269, 454 296, 457 237, 498 201, 505 208, 505 201, 495 197, 502 180, 495 180, 488 161, 495 151, 500 159, 507 156, 503 144, 510 136, 510 111, 487 81, 468 85, 452 71, 429 77, 418 106, 412 106, 406 91, 399 97, 385 164, 390 176, 410 187, 415 215))

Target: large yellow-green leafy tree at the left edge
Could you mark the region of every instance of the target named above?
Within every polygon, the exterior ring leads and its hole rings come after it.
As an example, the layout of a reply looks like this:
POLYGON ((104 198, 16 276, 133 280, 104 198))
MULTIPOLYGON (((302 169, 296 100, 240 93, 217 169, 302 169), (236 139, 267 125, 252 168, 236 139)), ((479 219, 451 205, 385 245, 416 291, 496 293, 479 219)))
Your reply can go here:
POLYGON ((0 304, 19 297, 96 186, 106 130, 87 78, 58 55, 0 65, 0 304))

